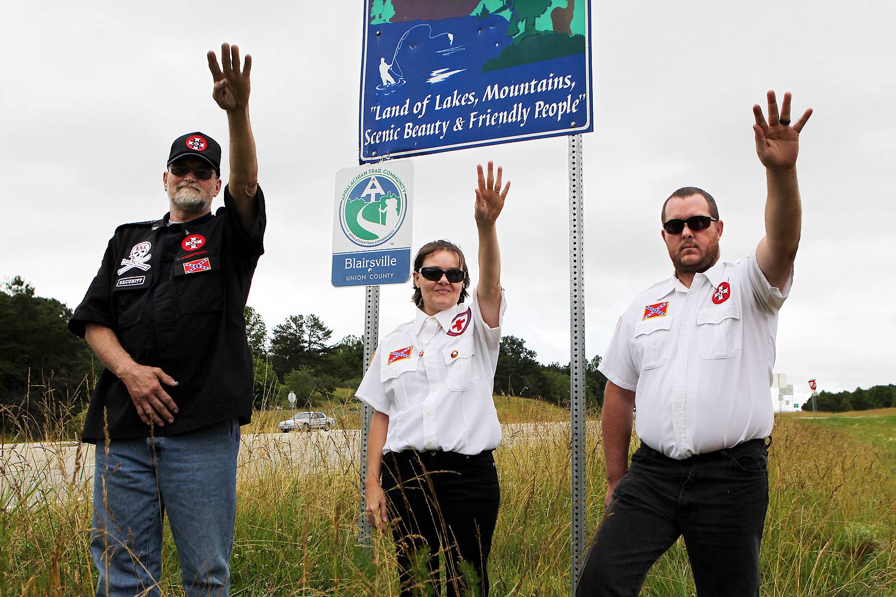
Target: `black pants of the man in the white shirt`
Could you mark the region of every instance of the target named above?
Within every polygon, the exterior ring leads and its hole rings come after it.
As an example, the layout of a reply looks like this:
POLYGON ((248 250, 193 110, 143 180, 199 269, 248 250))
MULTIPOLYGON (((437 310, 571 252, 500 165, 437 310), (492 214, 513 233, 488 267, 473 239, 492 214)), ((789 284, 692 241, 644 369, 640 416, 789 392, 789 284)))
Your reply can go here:
POLYGON ((681 535, 699 597, 759 595, 767 465, 764 439, 685 460, 642 444, 613 491, 576 597, 637 595, 681 535))

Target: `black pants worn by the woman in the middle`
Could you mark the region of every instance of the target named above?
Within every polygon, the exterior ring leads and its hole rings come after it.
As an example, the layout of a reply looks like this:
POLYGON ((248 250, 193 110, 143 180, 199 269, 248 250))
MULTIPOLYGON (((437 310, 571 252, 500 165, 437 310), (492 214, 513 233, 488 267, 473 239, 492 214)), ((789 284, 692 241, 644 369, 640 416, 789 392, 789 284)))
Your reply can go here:
POLYGON ((392 510, 401 596, 441 595, 439 551, 444 551, 448 595, 469 591, 466 562, 477 576, 479 594, 488 594, 488 553, 501 490, 491 451, 476 456, 456 452, 405 450, 383 456, 383 490, 392 510), (420 562, 418 550, 428 547, 420 562), (415 567, 428 574, 414 574, 415 567))

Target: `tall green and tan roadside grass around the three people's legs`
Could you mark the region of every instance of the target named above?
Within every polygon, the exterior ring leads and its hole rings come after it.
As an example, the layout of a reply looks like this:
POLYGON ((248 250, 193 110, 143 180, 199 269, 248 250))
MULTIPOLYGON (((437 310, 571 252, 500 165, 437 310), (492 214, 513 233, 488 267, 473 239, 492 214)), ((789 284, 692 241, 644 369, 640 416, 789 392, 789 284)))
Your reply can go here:
MULTIPOLYGON (((541 404, 518 401, 495 397, 502 420, 513 424, 495 451, 502 507, 489 560, 492 594, 567 595, 568 426, 526 424, 521 412, 550 413, 541 404)), ((287 413, 278 411, 271 421, 287 413)), ((593 530, 605 490, 596 423, 588 425, 586 440, 593 530)), ((29 460, 21 447, 0 446, 0 503, 5 505, 0 509, 0 595, 93 591, 88 550, 92 447, 59 443, 45 448, 46 458, 29 460), (48 489, 60 482, 64 491, 48 489)), ((244 436, 231 594, 397 594, 391 540, 375 534, 369 553, 358 548, 358 449, 358 431, 352 429, 244 436)), ((777 422, 762 543, 763 595, 892 597, 896 472, 890 463, 876 448, 839 429, 789 418, 777 422)), ((159 588, 163 595, 182 594, 177 552, 167 530, 159 588)), ((695 594, 682 543, 653 567, 642 594, 695 594)))

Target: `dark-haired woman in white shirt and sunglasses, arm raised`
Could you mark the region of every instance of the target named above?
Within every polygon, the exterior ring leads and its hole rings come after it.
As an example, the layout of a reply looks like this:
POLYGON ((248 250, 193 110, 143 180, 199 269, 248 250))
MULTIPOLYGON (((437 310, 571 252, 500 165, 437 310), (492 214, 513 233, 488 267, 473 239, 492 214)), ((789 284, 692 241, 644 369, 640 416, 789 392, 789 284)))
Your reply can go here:
POLYGON ((375 410, 366 513, 380 530, 392 520, 402 597, 418 594, 421 580, 442 594, 440 550, 449 596, 466 593, 470 583, 488 594, 501 498, 492 457, 501 441, 492 389, 505 306, 495 220, 510 189, 508 182, 502 190, 501 177, 492 162, 487 175, 478 166, 478 286, 467 292, 470 273, 460 248, 424 245, 414 260, 416 316, 383 337, 356 393, 375 410), (428 557, 416 566, 423 548, 428 557), (461 571, 461 561, 477 578, 461 571), (410 572, 426 567, 428 579, 410 572))

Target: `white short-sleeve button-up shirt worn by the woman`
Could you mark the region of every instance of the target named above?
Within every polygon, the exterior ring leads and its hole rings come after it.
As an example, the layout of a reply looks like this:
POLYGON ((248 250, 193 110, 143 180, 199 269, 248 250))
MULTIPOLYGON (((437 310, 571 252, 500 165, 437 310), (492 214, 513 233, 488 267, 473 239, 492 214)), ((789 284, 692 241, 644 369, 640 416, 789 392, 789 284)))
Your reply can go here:
POLYGON ((383 454, 404 449, 474 455, 501 442, 492 390, 504 321, 479 312, 476 289, 433 316, 418 310, 380 341, 355 396, 389 415, 383 454))

